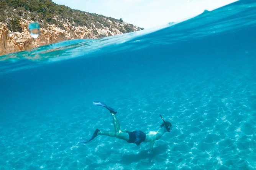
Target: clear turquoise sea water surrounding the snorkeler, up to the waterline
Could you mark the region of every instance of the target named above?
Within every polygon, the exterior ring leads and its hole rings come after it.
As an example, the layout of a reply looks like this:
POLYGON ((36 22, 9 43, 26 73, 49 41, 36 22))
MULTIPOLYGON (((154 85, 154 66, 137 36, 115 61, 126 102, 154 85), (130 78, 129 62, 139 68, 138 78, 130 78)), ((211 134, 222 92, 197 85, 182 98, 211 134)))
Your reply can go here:
POLYGON ((256 169, 256 3, 0 56, 0 169, 256 169), (140 146, 97 136, 171 133, 140 146))

